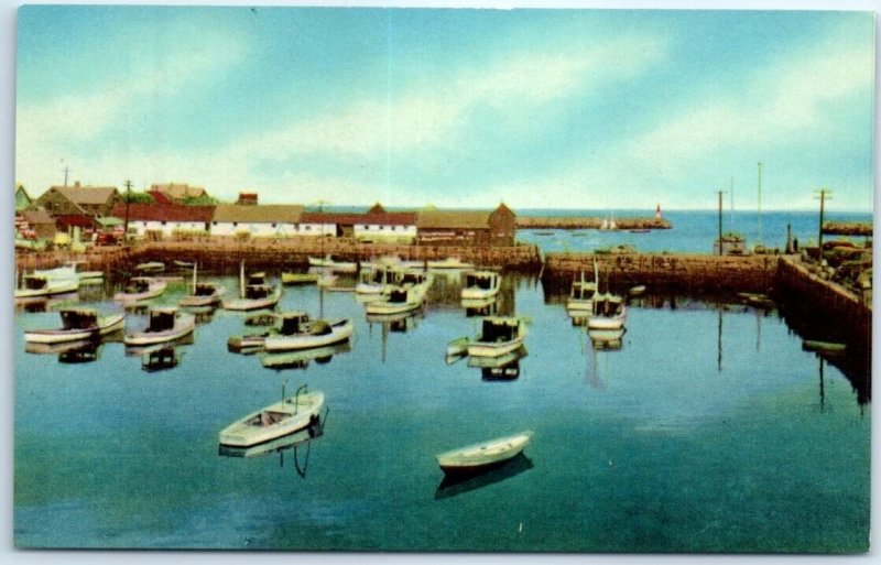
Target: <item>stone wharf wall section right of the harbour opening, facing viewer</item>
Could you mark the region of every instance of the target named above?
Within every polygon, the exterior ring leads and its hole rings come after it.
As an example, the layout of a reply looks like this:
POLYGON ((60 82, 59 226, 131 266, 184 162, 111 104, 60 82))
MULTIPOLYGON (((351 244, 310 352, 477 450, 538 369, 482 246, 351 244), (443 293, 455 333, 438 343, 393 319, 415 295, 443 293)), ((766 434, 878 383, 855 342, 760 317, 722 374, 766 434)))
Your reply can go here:
POLYGON ((644 284, 685 292, 770 293, 776 282, 777 256, 645 253, 547 253, 542 280, 569 284, 584 272, 594 278, 594 260, 613 289, 644 284))

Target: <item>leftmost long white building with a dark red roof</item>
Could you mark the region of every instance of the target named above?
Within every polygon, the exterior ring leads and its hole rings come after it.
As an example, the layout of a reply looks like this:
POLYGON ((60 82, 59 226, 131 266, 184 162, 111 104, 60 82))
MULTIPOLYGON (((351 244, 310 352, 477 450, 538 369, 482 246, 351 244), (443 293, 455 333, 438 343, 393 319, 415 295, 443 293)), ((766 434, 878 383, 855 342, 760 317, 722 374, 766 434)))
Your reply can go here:
POLYGON ((129 233, 171 238, 178 233, 207 233, 214 208, 184 204, 123 203, 113 207, 112 216, 121 219, 123 225, 128 220, 129 233))

